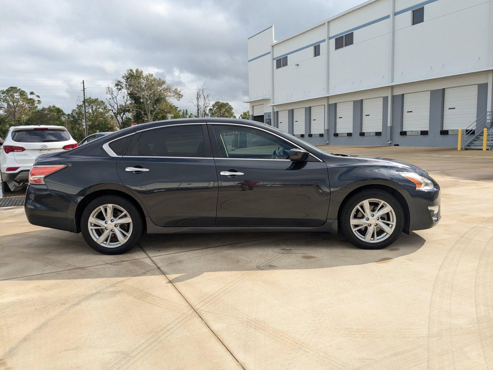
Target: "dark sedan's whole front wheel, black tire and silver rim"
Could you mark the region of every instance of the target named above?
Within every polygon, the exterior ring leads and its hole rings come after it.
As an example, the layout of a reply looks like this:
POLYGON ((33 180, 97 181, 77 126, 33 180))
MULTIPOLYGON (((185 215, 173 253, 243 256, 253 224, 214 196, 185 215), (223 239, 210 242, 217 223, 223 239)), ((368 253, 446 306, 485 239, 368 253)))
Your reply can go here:
POLYGON ((356 247, 382 249, 399 237, 404 212, 389 192, 366 189, 344 204, 339 222, 346 238, 356 247))

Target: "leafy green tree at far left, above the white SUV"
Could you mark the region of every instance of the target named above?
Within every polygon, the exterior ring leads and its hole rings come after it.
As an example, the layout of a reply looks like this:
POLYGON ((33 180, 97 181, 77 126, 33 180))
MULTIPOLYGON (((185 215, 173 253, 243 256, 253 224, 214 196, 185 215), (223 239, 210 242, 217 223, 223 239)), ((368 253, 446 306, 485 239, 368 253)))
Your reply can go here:
POLYGON ((0 114, 11 125, 24 125, 39 104, 41 100, 34 91, 28 94, 15 86, 0 91, 0 114))

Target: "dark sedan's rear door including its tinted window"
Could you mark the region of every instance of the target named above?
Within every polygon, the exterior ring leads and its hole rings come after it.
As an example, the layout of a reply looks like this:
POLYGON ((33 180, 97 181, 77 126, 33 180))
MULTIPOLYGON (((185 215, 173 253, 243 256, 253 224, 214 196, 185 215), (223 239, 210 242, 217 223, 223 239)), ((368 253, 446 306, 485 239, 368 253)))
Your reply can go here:
POLYGON ((137 133, 117 172, 156 225, 214 225, 217 176, 205 124, 137 133))

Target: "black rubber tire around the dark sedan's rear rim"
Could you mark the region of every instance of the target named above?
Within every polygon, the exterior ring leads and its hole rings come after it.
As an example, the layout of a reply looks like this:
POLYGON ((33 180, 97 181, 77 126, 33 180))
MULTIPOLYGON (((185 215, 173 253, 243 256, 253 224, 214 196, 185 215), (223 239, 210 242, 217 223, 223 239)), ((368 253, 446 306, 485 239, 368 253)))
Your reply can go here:
POLYGON ((131 250, 139 242, 139 240, 141 240, 143 222, 141 214, 139 213, 137 207, 132 204, 132 202, 128 201, 125 198, 122 198, 121 196, 104 195, 94 199, 86 206, 86 208, 82 212, 82 217, 80 219, 80 229, 84 240, 92 249, 105 255, 119 255, 131 250), (123 208, 132 219, 132 232, 130 234, 130 237, 122 245, 113 248, 104 247, 98 244, 96 240, 93 239, 89 231, 89 217, 91 216, 93 211, 105 204, 114 204, 123 208))

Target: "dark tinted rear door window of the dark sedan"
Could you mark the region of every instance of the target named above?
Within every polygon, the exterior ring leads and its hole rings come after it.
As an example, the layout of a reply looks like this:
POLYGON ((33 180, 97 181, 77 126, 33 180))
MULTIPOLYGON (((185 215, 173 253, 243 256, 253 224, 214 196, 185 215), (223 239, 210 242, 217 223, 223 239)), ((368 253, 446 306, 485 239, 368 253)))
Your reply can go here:
POLYGON ((205 157, 201 125, 162 127, 141 133, 132 155, 147 157, 205 157))

